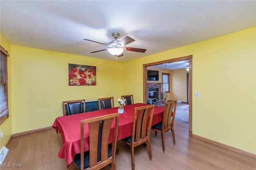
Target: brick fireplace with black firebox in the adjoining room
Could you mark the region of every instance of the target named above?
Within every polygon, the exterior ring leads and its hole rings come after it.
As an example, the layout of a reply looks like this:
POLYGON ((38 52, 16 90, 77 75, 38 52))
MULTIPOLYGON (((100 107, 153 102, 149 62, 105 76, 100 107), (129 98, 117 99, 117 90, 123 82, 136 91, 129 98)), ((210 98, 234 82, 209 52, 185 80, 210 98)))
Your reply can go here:
POLYGON ((162 84, 161 83, 147 83, 147 103, 162 104, 162 84))

